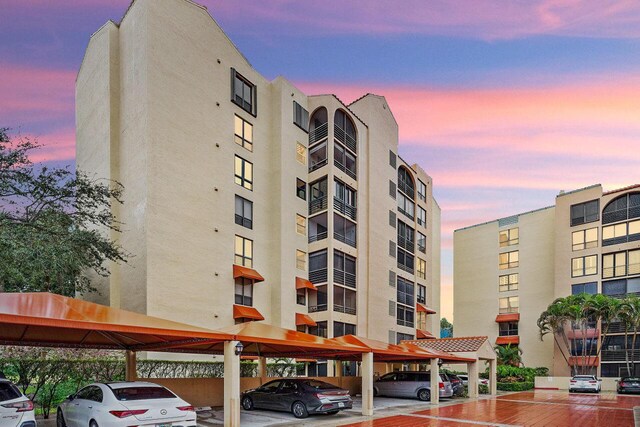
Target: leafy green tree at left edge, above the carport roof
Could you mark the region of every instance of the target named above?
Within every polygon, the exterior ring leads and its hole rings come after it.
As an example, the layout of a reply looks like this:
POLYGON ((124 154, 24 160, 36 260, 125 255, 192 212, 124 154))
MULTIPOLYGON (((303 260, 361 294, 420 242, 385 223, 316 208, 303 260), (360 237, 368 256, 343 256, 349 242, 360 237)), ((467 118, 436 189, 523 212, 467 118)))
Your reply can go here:
POLYGON ((81 171, 33 163, 36 140, 0 128, 0 291, 74 296, 95 290, 90 275, 128 254, 111 204, 123 187, 81 171))

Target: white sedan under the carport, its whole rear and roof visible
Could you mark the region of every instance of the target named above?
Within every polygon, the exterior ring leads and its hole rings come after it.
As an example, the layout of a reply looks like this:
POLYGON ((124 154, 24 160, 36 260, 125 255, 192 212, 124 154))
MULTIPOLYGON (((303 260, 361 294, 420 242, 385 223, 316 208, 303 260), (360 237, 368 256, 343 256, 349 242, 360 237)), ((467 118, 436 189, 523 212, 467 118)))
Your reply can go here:
POLYGON ((196 427, 196 412, 153 383, 91 384, 60 404, 58 427, 196 427))

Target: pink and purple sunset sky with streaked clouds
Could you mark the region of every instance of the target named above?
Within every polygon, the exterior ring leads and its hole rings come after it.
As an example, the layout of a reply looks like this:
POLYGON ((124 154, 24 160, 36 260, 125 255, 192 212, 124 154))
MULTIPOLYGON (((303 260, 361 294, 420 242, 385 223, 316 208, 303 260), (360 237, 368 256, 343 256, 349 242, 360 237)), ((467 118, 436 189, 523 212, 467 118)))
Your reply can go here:
MULTIPOLYGON (((166 0, 168 1, 168 0, 166 0)), ((253 66, 308 94, 384 95, 453 230, 640 180, 637 0, 200 0, 253 66)), ((74 80, 129 0, 0 0, 0 126, 73 165, 74 80)))

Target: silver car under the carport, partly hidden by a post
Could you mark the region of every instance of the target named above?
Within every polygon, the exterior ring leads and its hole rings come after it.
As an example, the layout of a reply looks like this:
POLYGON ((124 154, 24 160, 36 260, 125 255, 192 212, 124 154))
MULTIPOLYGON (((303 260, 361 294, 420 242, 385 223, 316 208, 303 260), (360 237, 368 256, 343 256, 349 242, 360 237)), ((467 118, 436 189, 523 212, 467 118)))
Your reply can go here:
MULTIPOLYGON (((440 374, 440 397, 453 396, 453 388, 440 374)), ((431 400, 431 374, 429 372, 401 371, 383 375, 373 383, 374 396, 413 397, 431 400)))

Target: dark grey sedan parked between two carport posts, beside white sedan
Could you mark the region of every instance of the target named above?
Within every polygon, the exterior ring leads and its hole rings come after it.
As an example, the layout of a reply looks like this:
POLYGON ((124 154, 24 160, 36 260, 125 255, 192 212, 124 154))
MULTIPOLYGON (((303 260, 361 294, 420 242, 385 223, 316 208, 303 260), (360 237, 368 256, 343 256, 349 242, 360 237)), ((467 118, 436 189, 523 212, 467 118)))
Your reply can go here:
POLYGON ((337 414, 351 409, 349 390, 308 378, 287 378, 270 381, 254 390, 242 393, 242 407, 291 412, 296 418, 309 414, 337 414))

